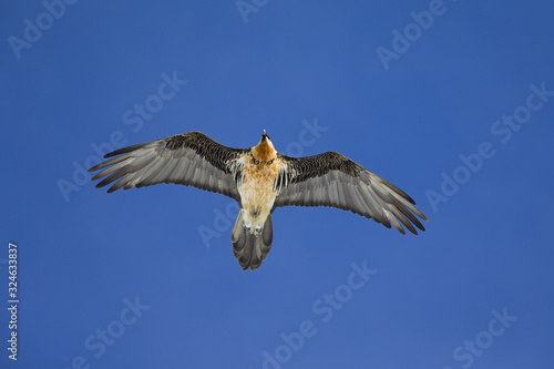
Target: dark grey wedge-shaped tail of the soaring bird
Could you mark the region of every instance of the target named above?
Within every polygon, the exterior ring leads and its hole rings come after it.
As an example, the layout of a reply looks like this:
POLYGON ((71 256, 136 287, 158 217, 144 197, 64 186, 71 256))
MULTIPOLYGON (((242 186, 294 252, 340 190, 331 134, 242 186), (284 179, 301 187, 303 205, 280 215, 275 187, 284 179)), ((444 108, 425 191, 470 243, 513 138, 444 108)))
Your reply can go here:
POLYGON ((244 270, 248 268, 256 270, 261 265, 271 248, 273 238, 271 215, 267 217, 261 232, 254 234, 244 225, 243 214, 238 214, 230 233, 230 240, 233 254, 244 270))

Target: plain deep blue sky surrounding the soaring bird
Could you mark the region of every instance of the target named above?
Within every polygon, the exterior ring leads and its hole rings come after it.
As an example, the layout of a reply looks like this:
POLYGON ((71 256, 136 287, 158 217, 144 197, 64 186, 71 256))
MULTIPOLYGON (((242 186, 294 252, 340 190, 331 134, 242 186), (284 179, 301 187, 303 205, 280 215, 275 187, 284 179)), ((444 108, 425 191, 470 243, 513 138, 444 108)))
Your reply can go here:
POLYGON ((553 3, 1 8, 0 296, 12 242, 20 298, 2 368, 552 367, 553 3), (243 271, 232 199, 106 194, 83 172, 123 145, 249 147, 264 129, 398 185, 428 230, 279 208, 243 271))

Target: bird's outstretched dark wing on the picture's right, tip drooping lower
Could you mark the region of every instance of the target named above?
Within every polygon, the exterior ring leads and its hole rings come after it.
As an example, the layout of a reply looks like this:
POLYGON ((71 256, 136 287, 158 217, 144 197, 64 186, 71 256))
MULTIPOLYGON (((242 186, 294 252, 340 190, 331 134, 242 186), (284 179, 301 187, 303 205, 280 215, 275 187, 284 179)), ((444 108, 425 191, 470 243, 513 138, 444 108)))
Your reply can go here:
POLYGON ((414 214, 427 218, 410 196, 351 160, 335 152, 280 157, 284 165, 275 182, 279 192, 275 207, 330 206, 372 218, 387 228, 392 225, 402 234, 402 225, 416 235, 414 225, 425 230, 414 214))

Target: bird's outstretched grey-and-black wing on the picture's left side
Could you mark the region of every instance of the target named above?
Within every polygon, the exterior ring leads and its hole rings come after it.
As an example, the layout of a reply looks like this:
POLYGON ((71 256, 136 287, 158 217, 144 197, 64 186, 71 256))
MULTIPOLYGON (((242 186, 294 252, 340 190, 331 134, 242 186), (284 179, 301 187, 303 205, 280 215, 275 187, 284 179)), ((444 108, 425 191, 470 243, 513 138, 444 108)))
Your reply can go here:
POLYGON ((112 158, 89 172, 103 170, 91 181, 103 178, 96 187, 113 183, 109 193, 174 183, 239 201, 236 160, 245 152, 248 150, 224 146, 202 132, 188 132, 116 150, 104 156, 112 158))

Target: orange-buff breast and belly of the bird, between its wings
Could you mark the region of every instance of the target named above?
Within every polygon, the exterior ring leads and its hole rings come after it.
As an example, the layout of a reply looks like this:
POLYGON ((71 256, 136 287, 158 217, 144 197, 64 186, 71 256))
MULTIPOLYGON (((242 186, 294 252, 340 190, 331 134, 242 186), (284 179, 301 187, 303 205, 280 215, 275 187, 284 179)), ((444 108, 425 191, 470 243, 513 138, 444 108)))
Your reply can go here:
POLYGON ((253 233, 261 232, 267 216, 277 197, 274 192, 274 182, 277 177, 279 165, 277 160, 271 164, 248 161, 243 166, 244 180, 238 186, 240 194, 242 216, 245 226, 253 233))

